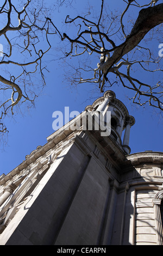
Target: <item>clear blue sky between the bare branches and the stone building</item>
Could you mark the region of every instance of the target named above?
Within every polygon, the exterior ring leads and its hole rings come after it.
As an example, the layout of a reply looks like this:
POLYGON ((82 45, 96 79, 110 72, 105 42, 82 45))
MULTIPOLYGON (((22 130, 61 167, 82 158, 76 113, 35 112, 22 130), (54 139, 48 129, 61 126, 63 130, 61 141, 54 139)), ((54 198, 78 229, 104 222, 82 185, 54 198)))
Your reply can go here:
MULTIPOLYGON (((53 1, 51 1, 53 3, 53 1)), ((76 1, 77 2, 77 1, 76 1)), ((76 6, 78 11, 84 6, 87 1, 78 1, 76 6)), ((90 4, 95 4, 99 1, 89 1, 90 4)), ((110 1, 110 8, 120 8, 120 0, 110 1), (111 5, 112 4, 112 5, 111 5)), ((74 7, 76 8, 76 7, 74 7)), ((67 11, 75 15, 75 9, 62 8, 60 13, 56 13, 54 20, 58 23, 64 21, 67 11), (61 20, 62 19, 62 20, 61 20)), ((67 32, 68 33, 68 32, 67 32)), ((155 42, 156 51, 160 42, 155 42)), ((58 47, 58 40, 54 42, 51 54, 55 56, 55 47, 58 47)), ((58 52, 56 53, 58 54, 58 52)), ((50 59, 51 56, 48 56, 50 59)), ((52 57, 52 59, 54 59, 52 57)), ((70 59, 69 59, 70 60, 70 59)), ((72 60, 73 61, 73 60, 72 60)), ((95 63, 96 66, 96 63, 95 63)), ((48 63, 49 73, 46 76, 47 86, 42 92, 42 95, 36 100, 35 108, 29 109, 23 115, 6 120, 9 134, 8 144, 2 150, 1 145, 1 161, 0 175, 9 173, 18 164, 25 160, 26 155, 30 154, 38 145, 44 145, 46 138, 54 131, 52 129, 54 111, 62 111, 66 106, 70 107, 71 111, 84 111, 87 105, 90 105, 103 94, 99 93, 92 84, 79 84, 76 88, 70 88, 64 77, 64 67, 59 65, 59 60, 54 60, 48 63)), ((139 74, 141 77, 141 72, 139 74)), ((146 77, 143 77, 146 78, 146 77)), ((148 77, 147 77, 148 80, 148 77)), ((162 151, 162 125, 163 121, 159 112, 152 107, 142 108, 133 105, 128 100, 128 91, 120 87, 112 87, 117 99, 121 100, 127 106, 129 114, 135 117, 135 125, 131 128, 130 143, 131 153, 137 153, 145 150, 162 151)))

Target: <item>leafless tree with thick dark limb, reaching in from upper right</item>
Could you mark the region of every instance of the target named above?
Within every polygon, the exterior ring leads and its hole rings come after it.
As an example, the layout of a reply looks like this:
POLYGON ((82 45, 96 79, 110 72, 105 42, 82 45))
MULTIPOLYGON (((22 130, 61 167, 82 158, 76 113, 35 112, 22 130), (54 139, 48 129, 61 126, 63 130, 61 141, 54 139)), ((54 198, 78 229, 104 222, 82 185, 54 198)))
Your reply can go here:
POLYGON ((101 92, 118 83, 133 91, 130 99, 134 103, 141 106, 149 103, 162 110, 162 57, 158 54, 158 44, 155 46, 157 52, 154 56, 144 42, 148 39, 150 45, 155 34, 162 35, 163 3, 158 0, 123 0, 124 10, 118 15, 109 13, 105 2, 101 0, 98 17, 91 14, 93 10, 85 15, 66 17, 65 23, 70 26, 70 33, 63 33, 61 40, 68 40, 70 48, 65 51, 65 57, 69 60, 70 57, 78 59, 78 62, 74 60, 75 64, 72 60, 72 64, 68 64, 74 70, 70 77, 71 83, 98 84, 101 92), (127 16, 130 10, 137 13, 135 21, 127 16), (71 35, 74 29, 76 36, 71 35), (140 72, 147 72, 144 81, 139 79, 140 72), (153 74, 154 82, 146 81, 149 73, 153 74))

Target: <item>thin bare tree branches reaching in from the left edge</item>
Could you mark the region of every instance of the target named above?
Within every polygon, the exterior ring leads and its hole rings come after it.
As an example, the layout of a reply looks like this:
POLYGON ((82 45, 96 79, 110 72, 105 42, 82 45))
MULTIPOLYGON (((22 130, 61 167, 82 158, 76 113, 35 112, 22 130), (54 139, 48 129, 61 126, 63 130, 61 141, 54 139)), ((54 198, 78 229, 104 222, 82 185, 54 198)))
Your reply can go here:
POLYGON ((4 0, 0 3, 1 135, 7 132, 5 116, 21 111, 24 102, 26 108, 33 106, 39 94, 37 87, 42 89, 46 84, 43 57, 51 48, 49 36, 53 36, 56 29, 49 26, 51 19, 43 2, 4 0))

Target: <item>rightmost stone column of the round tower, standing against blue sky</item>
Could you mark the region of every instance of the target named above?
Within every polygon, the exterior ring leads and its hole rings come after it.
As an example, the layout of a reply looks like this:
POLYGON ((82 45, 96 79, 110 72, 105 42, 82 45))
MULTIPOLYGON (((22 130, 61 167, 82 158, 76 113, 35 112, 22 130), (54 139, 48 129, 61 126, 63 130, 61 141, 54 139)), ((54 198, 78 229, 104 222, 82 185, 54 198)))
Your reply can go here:
POLYGON ((130 128, 133 126, 135 123, 134 117, 129 115, 127 118, 127 125, 124 133, 124 138, 123 138, 123 148, 127 152, 127 154, 130 154, 130 148, 129 148, 129 138, 130 138, 130 128))

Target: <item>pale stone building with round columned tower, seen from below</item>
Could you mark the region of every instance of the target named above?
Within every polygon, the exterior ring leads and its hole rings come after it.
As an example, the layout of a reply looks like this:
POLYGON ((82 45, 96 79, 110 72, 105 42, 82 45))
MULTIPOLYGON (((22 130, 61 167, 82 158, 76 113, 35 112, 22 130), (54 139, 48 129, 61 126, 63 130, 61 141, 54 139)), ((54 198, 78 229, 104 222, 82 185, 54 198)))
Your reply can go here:
POLYGON ((1 175, 0 245, 162 245, 163 153, 130 154, 134 123, 107 91, 1 175))

